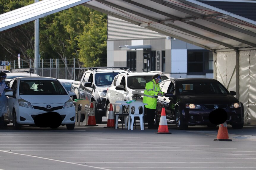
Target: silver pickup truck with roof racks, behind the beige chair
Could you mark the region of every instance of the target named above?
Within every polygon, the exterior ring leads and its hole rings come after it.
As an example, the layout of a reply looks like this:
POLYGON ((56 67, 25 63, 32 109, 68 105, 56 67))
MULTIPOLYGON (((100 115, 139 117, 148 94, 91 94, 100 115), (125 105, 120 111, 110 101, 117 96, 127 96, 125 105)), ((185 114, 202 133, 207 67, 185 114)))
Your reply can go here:
MULTIPOLYGON (((96 123, 102 122, 105 116, 105 102, 107 89, 119 72, 130 72, 129 67, 88 67, 80 81, 72 83, 71 91, 75 99, 85 99, 94 102, 96 123)), ((89 110, 89 107, 86 108, 89 110)))

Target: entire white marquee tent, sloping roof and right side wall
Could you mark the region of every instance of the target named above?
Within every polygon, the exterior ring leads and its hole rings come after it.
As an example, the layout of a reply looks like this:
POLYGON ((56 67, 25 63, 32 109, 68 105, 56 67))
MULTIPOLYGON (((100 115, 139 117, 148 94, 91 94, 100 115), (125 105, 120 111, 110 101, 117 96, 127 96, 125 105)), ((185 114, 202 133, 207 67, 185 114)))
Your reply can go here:
MULTIPOLYGON (((255 3, 255 1, 251 1, 255 3)), ((256 22, 195 0, 42 0, 0 15, 0 31, 76 5, 98 10, 214 52, 214 78, 256 124, 256 22)))

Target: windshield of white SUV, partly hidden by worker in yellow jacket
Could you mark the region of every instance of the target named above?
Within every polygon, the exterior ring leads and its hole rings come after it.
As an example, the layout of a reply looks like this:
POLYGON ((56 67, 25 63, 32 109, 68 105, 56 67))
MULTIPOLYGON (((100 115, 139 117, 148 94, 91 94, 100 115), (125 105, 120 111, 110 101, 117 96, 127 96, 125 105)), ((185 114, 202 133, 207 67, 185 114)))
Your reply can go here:
MULTIPOLYGON (((162 80, 168 79, 166 76, 161 76, 162 80)), ((128 77, 128 87, 130 89, 145 89, 146 83, 152 80, 152 76, 130 76, 128 77)))

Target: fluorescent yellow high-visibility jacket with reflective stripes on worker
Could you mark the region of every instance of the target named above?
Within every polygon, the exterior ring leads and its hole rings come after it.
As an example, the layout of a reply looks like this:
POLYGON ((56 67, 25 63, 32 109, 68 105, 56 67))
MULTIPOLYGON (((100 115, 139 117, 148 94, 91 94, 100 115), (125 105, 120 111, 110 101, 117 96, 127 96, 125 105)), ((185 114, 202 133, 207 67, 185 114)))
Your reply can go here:
POLYGON ((152 80, 150 82, 147 82, 145 90, 144 90, 144 96, 143 96, 143 103, 147 103, 148 105, 145 105, 148 109, 156 109, 157 107, 157 94, 163 92, 160 90, 159 84, 156 84, 155 80, 152 80))

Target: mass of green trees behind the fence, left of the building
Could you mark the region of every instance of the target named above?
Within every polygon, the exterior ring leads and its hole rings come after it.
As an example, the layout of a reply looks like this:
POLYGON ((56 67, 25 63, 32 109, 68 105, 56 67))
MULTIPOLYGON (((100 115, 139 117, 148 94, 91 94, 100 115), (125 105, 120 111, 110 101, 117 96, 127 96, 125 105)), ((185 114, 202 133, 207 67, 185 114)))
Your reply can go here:
MULTIPOLYGON (((32 3, 34 0, 1 0, 0 13, 32 3)), ((58 58, 64 62, 65 58, 76 58, 86 67, 106 65, 106 14, 78 5, 40 18, 39 24, 42 59, 58 58)), ((0 35, 0 49, 12 59, 18 53, 24 60, 34 59, 34 22, 2 31, 0 35)))

